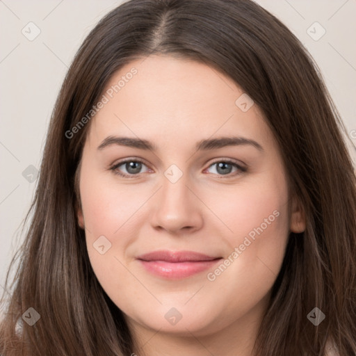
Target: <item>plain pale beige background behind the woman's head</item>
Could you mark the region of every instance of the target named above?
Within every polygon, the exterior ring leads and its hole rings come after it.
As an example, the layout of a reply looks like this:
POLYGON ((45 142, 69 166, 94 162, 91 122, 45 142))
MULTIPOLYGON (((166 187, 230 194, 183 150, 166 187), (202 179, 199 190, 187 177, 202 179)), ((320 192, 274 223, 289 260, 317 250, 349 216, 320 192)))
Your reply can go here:
MULTIPOLYGON (((40 166, 47 124, 67 67, 90 29, 121 2, 0 0, 0 285, 22 238, 18 227, 35 191, 34 168, 40 166), (35 31, 40 34, 29 40, 35 31)), ((281 19, 314 56, 355 144, 356 1, 256 2, 281 19)), ((356 161, 351 145, 350 152, 356 161)))

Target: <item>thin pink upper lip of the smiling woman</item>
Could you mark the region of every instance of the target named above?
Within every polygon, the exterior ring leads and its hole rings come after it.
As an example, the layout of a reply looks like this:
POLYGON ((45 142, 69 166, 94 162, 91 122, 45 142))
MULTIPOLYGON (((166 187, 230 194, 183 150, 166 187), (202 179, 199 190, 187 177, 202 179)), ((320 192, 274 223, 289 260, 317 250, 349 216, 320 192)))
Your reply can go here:
POLYGON ((212 257, 207 254, 202 254, 193 251, 168 251, 158 250, 141 254, 136 257, 143 261, 167 261, 167 262, 186 262, 186 261, 212 261, 220 259, 220 257, 212 257))

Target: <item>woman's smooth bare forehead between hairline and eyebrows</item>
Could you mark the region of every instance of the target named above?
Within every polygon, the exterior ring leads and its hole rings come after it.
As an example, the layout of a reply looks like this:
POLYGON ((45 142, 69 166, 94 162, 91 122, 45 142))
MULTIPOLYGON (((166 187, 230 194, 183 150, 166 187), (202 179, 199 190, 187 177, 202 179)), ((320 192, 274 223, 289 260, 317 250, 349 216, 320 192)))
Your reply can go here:
POLYGON ((124 133, 165 145, 227 134, 272 140, 257 105, 248 111, 238 106, 246 95, 243 90, 228 76, 194 60, 133 60, 115 72, 103 95, 107 102, 92 120, 91 139, 124 133))

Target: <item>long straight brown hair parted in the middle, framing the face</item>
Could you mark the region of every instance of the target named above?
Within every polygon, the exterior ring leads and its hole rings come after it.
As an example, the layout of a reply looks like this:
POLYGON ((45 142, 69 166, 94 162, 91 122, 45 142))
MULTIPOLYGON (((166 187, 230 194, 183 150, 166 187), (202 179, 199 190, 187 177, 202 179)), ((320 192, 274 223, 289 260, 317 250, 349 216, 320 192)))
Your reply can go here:
POLYGON ((307 227, 289 235, 255 355, 321 356, 327 340, 339 355, 356 355, 356 179, 343 141, 346 130, 302 44, 249 0, 127 1, 83 42, 51 118, 26 216, 32 213, 31 223, 8 286, 0 353, 132 353, 130 330, 92 271, 76 218, 76 172, 90 123, 72 138, 67 132, 90 112, 115 71, 149 54, 199 60, 247 92, 273 131, 305 210, 307 227), (23 322, 17 332, 29 307, 40 320, 33 326, 23 322), (325 314, 318 326, 307 319, 314 307, 325 314))

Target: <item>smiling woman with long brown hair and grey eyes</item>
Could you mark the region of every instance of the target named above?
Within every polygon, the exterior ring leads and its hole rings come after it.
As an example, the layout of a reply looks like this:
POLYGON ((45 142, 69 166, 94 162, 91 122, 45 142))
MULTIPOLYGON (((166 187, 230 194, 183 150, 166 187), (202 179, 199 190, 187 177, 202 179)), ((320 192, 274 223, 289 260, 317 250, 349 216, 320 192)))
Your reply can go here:
POLYGON ((1 353, 355 355, 341 130, 253 1, 111 11, 54 108, 1 353))

